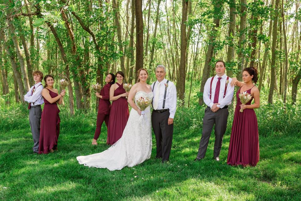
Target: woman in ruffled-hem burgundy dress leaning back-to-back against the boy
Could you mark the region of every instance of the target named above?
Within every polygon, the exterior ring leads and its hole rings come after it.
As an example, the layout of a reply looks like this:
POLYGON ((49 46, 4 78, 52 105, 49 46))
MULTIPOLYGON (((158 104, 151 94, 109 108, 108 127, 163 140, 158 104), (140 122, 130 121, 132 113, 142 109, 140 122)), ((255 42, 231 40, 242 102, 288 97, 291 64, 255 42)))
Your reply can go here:
POLYGON ((42 90, 44 108, 41 115, 39 154, 53 153, 57 150, 57 139, 60 134, 60 116, 57 103, 61 104, 65 90, 58 94, 53 88, 54 78, 51 75, 44 77, 45 88, 42 90))

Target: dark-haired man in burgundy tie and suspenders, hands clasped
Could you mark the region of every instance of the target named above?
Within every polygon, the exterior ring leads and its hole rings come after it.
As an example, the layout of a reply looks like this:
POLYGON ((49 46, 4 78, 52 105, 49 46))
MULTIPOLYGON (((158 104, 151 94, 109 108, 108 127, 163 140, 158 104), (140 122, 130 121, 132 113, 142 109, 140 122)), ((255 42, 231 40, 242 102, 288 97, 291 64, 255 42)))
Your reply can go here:
POLYGON ((219 161, 223 136, 227 128, 229 115, 228 105, 231 104, 234 93, 234 86, 229 84, 232 79, 227 77, 225 70, 225 63, 223 61, 217 61, 215 63, 216 75, 207 79, 204 86, 203 100, 208 107, 205 109, 202 138, 198 148, 198 156, 195 158, 195 161, 205 157, 214 124, 215 141, 213 159, 219 161))

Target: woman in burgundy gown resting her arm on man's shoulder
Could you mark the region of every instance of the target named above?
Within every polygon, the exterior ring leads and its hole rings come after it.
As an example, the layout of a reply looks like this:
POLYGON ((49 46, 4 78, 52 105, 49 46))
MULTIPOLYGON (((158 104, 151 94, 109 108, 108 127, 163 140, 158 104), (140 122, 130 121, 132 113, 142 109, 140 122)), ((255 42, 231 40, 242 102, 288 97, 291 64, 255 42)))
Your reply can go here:
MULTIPOLYGON (((240 89, 236 93, 237 104, 234 113, 227 164, 231 166, 256 166, 259 161, 258 124, 254 108, 260 106, 259 90, 253 84, 257 82, 257 69, 245 68, 242 73, 243 82, 234 80, 240 89), (254 98, 254 104, 250 100, 242 105, 238 97, 239 93, 247 92, 254 98), (243 112, 240 112, 240 108, 243 112)), ((253 99, 252 98, 252 99, 253 99)))

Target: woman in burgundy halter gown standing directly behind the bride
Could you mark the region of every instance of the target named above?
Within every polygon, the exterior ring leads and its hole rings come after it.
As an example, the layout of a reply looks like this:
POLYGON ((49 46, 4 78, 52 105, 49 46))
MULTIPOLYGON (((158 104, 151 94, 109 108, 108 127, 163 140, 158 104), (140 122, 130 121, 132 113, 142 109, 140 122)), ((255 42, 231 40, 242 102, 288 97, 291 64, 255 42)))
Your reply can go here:
POLYGON ((123 88, 124 73, 118 71, 116 73, 117 83, 112 84, 110 88, 110 100, 112 106, 110 111, 110 118, 108 124, 108 138, 107 144, 114 144, 117 142, 123 133, 126 122, 129 118, 129 106, 126 96, 129 92, 125 92, 123 88))

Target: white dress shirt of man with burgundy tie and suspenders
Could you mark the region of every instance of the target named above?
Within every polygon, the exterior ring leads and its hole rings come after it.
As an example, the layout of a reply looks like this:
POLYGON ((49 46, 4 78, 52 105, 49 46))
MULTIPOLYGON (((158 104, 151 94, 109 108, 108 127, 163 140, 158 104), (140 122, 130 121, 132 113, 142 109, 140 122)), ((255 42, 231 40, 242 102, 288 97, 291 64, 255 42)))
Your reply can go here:
MULTIPOLYGON (((207 82, 204 86, 203 100, 204 100, 204 103, 210 108, 214 104, 213 103, 214 94, 215 94, 215 88, 216 88, 216 83, 218 81, 218 78, 219 78, 219 76, 217 76, 217 75, 214 76, 214 79, 213 79, 213 82, 212 82, 212 88, 211 88, 211 99, 210 99, 210 83, 211 83, 212 77, 207 79, 207 82)), ((217 106, 220 107, 220 108, 223 108, 224 106, 227 106, 227 105, 231 104, 233 94, 234 94, 234 86, 230 85, 230 82, 232 81, 232 79, 229 78, 226 95, 224 97, 224 91, 225 91, 225 84, 226 84, 226 80, 227 80, 227 75, 224 74, 223 76, 221 76, 221 78, 222 79, 220 79, 220 89, 219 89, 219 103, 220 103, 220 105, 217 105, 217 106)))

